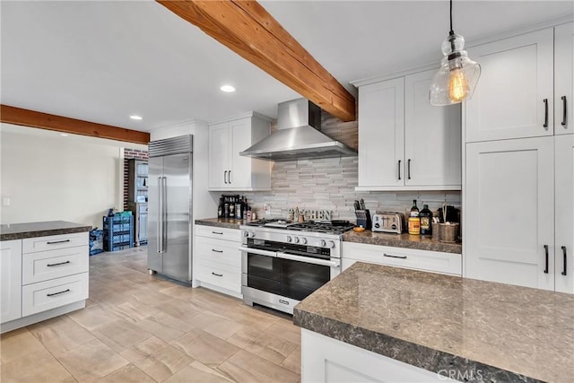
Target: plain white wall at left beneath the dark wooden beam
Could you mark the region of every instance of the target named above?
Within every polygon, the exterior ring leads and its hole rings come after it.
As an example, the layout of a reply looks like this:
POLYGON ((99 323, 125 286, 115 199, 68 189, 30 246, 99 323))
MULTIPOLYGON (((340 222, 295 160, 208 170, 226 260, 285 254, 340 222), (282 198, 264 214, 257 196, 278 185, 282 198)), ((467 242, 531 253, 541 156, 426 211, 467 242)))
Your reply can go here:
POLYGON ((71 221, 100 227, 122 210, 122 147, 127 144, 11 124, 0 125, 0 222, 71 221))

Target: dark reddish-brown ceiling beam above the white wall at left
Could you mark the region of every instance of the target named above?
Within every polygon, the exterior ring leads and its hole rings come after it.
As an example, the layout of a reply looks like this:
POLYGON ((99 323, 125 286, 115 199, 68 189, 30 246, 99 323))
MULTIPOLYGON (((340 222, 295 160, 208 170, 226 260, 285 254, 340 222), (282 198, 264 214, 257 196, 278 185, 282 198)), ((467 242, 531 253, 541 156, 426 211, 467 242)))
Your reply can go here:
POLYGON ((39 127, 40 129, 54 130, 74 135, 108 138, 109 140, 125 141, 127 143, 146 145, 150 142, 150 134, 147 132, 97 124, 81 119, 51 115, 8 105, 0 105, 0 121, 7 124, 39 127))

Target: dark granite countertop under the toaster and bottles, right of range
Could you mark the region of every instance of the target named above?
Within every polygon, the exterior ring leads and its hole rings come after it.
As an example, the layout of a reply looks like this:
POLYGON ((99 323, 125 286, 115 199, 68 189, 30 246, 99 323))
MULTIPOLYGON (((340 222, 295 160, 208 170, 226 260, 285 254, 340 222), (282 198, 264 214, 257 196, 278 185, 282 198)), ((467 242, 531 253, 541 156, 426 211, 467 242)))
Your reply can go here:
POLYGON ((373 231, 347 231, 343 234, 345 242, 367 243, 370 245, 392 246, 394 248, 415 248, 418 250, 442 251, 443 253, 462 254, 461 243, 439 242, 436 239, 420 235, 392 234, 373 231))

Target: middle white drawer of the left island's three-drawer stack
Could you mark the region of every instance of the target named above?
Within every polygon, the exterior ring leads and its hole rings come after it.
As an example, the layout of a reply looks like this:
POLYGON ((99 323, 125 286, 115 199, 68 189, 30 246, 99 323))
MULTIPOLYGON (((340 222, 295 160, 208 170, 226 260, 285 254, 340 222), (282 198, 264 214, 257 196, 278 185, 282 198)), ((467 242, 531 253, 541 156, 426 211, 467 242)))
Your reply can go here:
POLYGON ((22 256, 22 284, 88 271, 88 247, 61 248, 22 256))

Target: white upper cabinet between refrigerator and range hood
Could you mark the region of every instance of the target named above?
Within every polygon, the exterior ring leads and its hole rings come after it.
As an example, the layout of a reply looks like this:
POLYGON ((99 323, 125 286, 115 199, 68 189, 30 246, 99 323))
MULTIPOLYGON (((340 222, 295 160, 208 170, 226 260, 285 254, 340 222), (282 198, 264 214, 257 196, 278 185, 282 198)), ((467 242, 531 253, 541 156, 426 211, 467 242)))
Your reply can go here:
POLYGON ((209 190, 268 190, 271 162, 239 152, 269 135, 271 119, 249 113, 209 126, 209 190))

